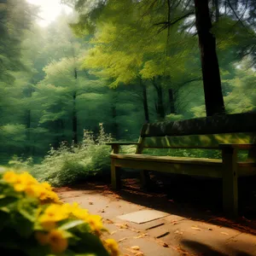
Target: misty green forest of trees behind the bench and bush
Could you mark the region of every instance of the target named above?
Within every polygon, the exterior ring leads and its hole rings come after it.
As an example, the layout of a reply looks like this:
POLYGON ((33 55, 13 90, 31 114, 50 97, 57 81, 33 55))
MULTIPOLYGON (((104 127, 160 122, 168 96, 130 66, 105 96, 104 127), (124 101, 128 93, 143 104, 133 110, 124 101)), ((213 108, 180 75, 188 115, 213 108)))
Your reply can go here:
POLYGON ((43 27, 37 6, 0 1, 0 164, 102 125, 137 140, 145 122, 255 110, 256 1, 62 3, 43 27))

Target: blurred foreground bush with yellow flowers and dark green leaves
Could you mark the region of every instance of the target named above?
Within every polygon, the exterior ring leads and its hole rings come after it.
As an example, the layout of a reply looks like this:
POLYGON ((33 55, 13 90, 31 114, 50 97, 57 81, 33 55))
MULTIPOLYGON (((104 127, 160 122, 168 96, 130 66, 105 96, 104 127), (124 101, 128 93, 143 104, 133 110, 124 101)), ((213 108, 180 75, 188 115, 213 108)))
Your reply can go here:
POLYGON ((3 255, 119 255, 115 241, 102 240, 100 216, 62 204, 48 183, 28 172, 1 172, 0 191, 3 255))

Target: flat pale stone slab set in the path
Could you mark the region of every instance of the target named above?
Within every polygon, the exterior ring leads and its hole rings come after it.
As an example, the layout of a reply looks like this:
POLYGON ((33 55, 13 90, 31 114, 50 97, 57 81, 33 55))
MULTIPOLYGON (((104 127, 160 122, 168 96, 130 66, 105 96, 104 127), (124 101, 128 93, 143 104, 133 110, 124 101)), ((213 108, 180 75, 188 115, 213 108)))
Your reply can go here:
POLYGON ((168 215, 169 213, 166 213, 166 212, 160 212, 155 210, 143 210, 143 211, 131 212, 125 215, 121 215, 118 218, 131 221, 137 224, 143 224, 158 218, 164 218, 168 215))

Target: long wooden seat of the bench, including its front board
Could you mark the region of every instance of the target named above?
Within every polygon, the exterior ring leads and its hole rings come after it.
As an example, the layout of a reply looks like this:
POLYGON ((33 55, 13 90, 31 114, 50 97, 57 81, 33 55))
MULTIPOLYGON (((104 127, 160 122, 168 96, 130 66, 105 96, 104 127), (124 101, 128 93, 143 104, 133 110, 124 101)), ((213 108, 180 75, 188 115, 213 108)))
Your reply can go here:
MULTIPOLYGON (((200 177, 222 177, 222 160, 207 158, 189 158, 155 156, 149 154, 111 154, 114 165, 156 172, 187 174, 200 177), (166 165, 165 165, 166 164, 166 165), (195 165, 196 168, 189 168, 195 165)), ((237 162, 238 176, 256 175, 256 163, 237 162)))

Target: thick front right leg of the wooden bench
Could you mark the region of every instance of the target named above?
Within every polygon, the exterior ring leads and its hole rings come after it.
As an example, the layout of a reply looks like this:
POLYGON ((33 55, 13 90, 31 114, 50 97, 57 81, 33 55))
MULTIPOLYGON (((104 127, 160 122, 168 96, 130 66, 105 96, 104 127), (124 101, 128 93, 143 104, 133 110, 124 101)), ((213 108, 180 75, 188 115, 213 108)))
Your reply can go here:
POLYGON ((230 217, 238 215, 237 150, 223 149, 223 207, 230 217))

